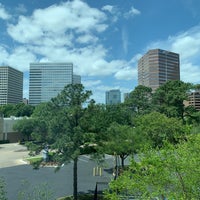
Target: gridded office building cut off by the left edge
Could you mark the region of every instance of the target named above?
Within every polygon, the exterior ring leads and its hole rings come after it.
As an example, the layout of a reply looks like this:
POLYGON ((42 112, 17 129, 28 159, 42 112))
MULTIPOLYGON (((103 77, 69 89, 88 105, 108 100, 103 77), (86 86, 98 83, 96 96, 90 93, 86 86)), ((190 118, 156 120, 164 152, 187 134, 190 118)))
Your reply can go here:
POLYGON ((0 66, 0 105, 16 104, 23 99, 23 72, 0 66))

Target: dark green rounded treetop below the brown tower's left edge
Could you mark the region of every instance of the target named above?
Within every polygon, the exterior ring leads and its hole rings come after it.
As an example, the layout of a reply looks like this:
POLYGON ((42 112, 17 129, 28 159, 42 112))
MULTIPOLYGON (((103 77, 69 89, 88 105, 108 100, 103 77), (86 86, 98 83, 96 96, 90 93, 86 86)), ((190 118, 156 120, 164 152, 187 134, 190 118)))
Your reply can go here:
POLYGON ((125 105, 136 114, 146 114, 151 111, 152 89, 143 85, 135 87, 129 97, 125 99, 125 105))

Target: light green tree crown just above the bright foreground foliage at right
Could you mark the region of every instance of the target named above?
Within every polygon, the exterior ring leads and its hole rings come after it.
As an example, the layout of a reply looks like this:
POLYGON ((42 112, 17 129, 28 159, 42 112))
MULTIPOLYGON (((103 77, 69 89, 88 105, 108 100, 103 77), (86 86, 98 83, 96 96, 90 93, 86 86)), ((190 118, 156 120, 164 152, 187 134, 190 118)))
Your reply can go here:
POLYGON ((161 147, 166 140, 175 144, 190 131, 190 127, 177 118, 168 118, 158 112, 137 117, 134 122, 138 133, 148 139, 153 147, 161 147))

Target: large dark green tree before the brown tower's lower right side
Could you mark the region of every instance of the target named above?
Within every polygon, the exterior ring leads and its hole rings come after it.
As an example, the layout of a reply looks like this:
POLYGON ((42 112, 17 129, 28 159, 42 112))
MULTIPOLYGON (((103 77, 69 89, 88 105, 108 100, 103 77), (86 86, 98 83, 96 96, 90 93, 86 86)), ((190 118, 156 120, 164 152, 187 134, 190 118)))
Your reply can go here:
POLYGON ((193 88, 192 84, 179 80, 167 81, 153 94, 153 103, 156 110, 168 117, 177 117, 184 122, 185 105, 188 100, 188 92, 193 88))

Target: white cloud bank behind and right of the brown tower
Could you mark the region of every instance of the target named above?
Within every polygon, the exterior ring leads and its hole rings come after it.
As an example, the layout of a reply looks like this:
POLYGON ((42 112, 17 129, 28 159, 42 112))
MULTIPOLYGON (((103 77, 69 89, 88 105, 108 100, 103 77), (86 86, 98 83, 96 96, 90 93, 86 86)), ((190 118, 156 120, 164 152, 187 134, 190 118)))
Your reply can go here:
POLYGON ((181 80, 190 83, 200 82, 200 26, 170 36, 167 40, 153 42, 146 50, 154 48, 179 53, 181 80))

